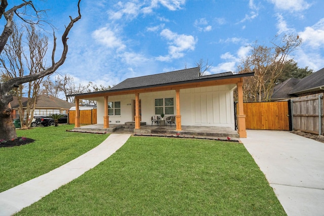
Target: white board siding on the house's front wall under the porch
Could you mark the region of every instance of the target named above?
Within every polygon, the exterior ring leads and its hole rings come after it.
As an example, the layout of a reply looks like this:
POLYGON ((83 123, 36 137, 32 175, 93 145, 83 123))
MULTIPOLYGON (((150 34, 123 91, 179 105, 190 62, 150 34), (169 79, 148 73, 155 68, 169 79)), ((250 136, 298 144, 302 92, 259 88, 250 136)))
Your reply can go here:
MULTIPOLYGON (((202 87, 180 90, 180 112, 182 125, 229 126, 234 128, 234 102, 232 85, 202 87)), ((154 115, 154 100, 174 98, 174 115, 176 115, 176 91, 162 91, 140 94, 141 122, 151 125, 154 115)), ((121 115, 109 116, 111 124, 124 124, 133 121, 133 103, 135 95, 110 96, 109 102, 120 101, 121 115)), ((97 99, 97 123, 103 123, 104 100, 97 99)))

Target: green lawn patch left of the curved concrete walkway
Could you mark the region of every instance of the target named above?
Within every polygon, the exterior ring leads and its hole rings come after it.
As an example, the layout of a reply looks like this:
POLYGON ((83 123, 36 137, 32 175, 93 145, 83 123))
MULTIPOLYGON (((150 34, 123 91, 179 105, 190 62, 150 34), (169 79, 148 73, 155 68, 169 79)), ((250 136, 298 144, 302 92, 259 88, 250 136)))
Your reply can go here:
POLYGON ((41 176, 86 153, 108 135, 66 132, 74 124, 57 127, 17 129, 18 137, 35 142, 11 148, 0 148, 0 192, 41 176))

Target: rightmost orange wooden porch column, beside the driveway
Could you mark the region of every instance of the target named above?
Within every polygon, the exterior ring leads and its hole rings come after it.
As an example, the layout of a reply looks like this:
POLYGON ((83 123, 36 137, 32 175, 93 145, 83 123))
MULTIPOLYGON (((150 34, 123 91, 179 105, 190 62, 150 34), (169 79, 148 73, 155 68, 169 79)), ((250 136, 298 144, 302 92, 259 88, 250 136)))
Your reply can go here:
POLYGON ((240 82, 237 82, 237 93, 238 93, 238 110, 237 110, 237 129, 239 138, 247 138, 245 114, 243 108, 243 78, 240 82))

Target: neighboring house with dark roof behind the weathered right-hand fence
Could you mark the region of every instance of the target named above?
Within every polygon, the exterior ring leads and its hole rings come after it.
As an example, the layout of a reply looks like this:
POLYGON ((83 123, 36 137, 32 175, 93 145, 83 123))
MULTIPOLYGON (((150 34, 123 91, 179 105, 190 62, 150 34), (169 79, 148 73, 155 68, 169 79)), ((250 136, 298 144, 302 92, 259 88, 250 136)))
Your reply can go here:
POLYGON ((324 93, 324 68, 302 79, 290 78, 276 85, 271 100, 287 100, 317 93, 324 93))

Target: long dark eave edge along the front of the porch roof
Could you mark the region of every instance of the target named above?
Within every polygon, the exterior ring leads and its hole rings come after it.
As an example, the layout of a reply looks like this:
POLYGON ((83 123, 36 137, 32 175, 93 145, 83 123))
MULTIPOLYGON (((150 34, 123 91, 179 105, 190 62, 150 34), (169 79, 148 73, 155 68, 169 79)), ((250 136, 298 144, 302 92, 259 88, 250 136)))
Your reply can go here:
POLYGON ((91 95, 95 95, 95 94, 124 92, 124 91, 147 89, 147 88, 153 88, 153 87, 165 87, 168 85, 175 85, 175 84, 186 84, 186 83, 194 83, 194 82, 201 82, 201 81, 213 81, 213 80, 220 80, 220 79, 240 78, 240 77, 247 77, 247 76, 254 76, 254 72, 238 73, 238 74, 227 75, 227 76, 216 76, 216 77, 207 77, 207 78, 199 77, 198 79, 192 79, 192 80, 187 80, 187 81, 168 82, 168 83, 155 84, 155 85, 145 85, 143 87, 134 87, 134 88, 128 88, 128 89, 116 89, 116 90, 106 90, 106 91, 101 91, 101 92, 81 93, 81 94, 75 94, 75 95, 67 95, 67 97, 85 96, 85 95, 91 96, 91 95))

